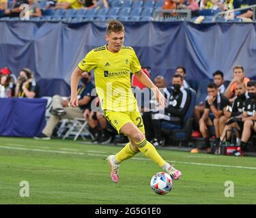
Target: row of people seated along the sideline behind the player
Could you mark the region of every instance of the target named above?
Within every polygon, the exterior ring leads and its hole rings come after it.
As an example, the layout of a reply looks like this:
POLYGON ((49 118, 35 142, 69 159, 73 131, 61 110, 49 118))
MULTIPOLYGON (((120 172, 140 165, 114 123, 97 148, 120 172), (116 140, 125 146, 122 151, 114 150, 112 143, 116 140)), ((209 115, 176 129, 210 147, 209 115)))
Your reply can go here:
MULTIPOLYGON (((147 76, 150 75, 150 67, 143 67, 147 76)), ((134 95, 143 95, 145 88, 136 76, 131 77, 134 95), (141 93, 139 91, 141 91, 141 93)), ((198 91, 197 105, 193 112, 192 138, 203 138, 204 145, 197 147, 191 153, 207 151, 208 153, 220 153, 221 143, 230 139, 230 130, 237 129, 237 144, 240 144, 243 155, 246 144, 256 131, 256 81, 246 78, 244 67, 233 67, 233 79, 224 80, 224 74, 217 70, 213 74, 213 80, 199 82, 199 87, 191 81, 186 81, 186 69, 177 66, 171 79, 171 87, 167 87, 164 77, 156 76, 154 84, 161 89, 167 99, 167 107, 158 109, 158 102, 150 93, 148 102, 139 102, 145 134, 147 140, 154 146, 164 146, 166 136, 162 129, 181 129, 184 126, 184 117, 191 104, 191 87, 198 91), (203 84, 204 94, 199 95, 200 84, 203 84), (148 104, 147 104, 148 103, 148 104), (211 146, 210 140, 214 139, 211 146)), ((0 69, 0 97, 38 97, 39 87, 35 82, 33 72, 30 69, 21 69, 18 78, 12 74, 8 67, 0 69)), ((98 97, 94 96, 94 84, 91 82, 91 74, 85 72, 81 76, 81 85, 77 93, 79 107, 69 106, 69 97, 53 96, 53 104, 50 110, 51 116, 44 127, 40 139, 50 139, 53 130, 62 119, 84 119, 88 123, 93 142, 106 144, 124 144, 126 136, 117 136, 117 132, 103 116, 98 97), (97 110, 96 110, 97 109, 97 110)), ((138 96, 139 96, 138 95, 138 96)), ((138 97, 136 96, 136 97, 138 97)))

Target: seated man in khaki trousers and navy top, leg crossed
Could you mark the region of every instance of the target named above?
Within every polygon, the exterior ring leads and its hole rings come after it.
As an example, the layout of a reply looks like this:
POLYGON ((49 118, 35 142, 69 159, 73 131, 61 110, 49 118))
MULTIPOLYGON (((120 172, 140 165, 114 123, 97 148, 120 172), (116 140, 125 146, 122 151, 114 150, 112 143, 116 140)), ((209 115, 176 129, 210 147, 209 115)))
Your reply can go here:
POLYGON ((72 108, 69 106, 69 99, 63 100, 61 96, 53 96, 53 109, 50 111, 51 116, 48 119, 46 126, 42 130, 42 134, 35 139, 49 140, 53 134, 53 129, 61 119, 83 118, 83 111, 91 108, 91 91, 94 89, 94 84, 91 82, 91 76, 87 72, 83 73, 81 78, 82 85, 77 89, 79 97, 79 107, 72 108))

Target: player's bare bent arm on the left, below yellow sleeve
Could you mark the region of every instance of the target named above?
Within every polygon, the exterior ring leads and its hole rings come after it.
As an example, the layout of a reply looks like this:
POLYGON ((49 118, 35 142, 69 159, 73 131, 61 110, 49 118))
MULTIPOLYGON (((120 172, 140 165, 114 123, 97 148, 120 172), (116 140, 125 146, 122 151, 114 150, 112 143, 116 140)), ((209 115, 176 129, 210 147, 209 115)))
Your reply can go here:
POLYGON ((70 87, 71 87, 71 97, 70 97, 70 106, 73 108, 79 106, 79 98, 77 97, 77 87, 79 85, 79 78, 81 74, 83 73, 83 70, 80 69, 79 67, 76 67, 74 71, 72 72, 71 75, 71 82, 70 82, 70 87))

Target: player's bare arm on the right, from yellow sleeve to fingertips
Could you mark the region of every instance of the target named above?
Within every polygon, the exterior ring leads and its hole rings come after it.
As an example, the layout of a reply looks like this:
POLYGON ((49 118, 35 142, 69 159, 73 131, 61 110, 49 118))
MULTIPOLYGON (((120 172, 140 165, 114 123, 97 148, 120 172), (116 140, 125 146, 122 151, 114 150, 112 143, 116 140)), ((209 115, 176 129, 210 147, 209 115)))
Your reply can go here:
POLYGON ((160 108, 165 108, 167 99, 165 99, 165 96, 162 95, 162 93, 159 91, 158 87, 155 86, 155 84, 150 80, 150 78, 143 72, 141 69, 139 72, 135 73, 135 76, 137 76, 138 80, 144 84, 147 88, 152 89, 154 96, 156 97, 156 100, 160 104, 160 108))

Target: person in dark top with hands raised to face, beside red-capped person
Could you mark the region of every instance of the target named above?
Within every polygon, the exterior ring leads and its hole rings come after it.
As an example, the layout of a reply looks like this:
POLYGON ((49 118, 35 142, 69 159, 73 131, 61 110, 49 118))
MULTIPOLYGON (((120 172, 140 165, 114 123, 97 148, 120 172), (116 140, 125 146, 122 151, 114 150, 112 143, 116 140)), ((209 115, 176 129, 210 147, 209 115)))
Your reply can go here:
POLYGON ((20 76, 17 79, 15 96, 16 97, 38 97, 39 87, 33 78, 30 69, 24 68, 20 70, 20 76))

